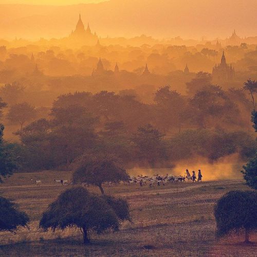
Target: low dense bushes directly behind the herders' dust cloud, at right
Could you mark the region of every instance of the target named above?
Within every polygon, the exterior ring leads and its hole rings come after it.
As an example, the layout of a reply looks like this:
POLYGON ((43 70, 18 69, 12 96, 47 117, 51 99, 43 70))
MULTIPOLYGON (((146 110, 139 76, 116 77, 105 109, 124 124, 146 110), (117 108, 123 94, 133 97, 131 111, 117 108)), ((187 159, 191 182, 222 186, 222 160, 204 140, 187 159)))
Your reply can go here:
POLYGON ((245 132, 221 130, 186 130, 169 140, 169 156, 172 160, 203 156, 210 161, 240 153, 243 159, 251 158, 257 150, 257 142, 245 132))

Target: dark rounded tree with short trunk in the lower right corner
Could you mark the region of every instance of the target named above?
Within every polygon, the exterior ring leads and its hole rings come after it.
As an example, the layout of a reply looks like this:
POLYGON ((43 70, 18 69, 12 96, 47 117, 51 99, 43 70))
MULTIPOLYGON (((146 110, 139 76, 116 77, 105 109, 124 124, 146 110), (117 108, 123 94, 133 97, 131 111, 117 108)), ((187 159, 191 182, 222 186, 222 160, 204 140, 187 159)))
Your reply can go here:
POLYGON ((217 201, 214 215, 217 236, 245 230, 245 242, 249 233, 257 229, 257 193, 254 191, 230 191, 217 201))

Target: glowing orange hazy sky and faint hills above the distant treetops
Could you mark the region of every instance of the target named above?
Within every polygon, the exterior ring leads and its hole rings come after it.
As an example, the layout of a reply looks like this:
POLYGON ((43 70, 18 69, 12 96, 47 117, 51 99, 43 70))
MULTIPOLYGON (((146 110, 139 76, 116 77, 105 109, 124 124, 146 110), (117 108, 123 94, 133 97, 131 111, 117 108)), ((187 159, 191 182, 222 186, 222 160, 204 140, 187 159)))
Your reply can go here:
POLYGON ((44 4, 45 1, 30 5, 30 2, 2 2, 1 38, 62 38, 75 29, 79 13, 84 24, 89 22, 91 30, 103 38, 107 35, 132 38, 146 34, 156 39, 181 36, 183 39, 200 40, 204 36, 214 40, 228 38, 234 29, 241 37, 257 35, 254 11, 257 2, 254 0, 237 0, 236 4, 232 0, 208 3, 204 0, 190 3, 186 0, 164 0, 161 5, 157 0, 110 0, 101 3, 89 0, 72 5, 70 1, 63 5, 60 1, 54 1, 54 5, 44 4))

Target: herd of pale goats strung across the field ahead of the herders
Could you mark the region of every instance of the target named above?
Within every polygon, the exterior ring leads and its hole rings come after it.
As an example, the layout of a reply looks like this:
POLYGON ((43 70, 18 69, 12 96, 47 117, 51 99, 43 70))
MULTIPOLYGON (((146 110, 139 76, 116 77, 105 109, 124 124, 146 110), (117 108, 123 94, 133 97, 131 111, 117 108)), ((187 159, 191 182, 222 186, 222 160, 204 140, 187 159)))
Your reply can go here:
MULTIPOLYGON (((130 176, 130 178, 127 181, 123 181, 124 185, 135 185, 138 184, 140 187, 143 185, 149 185, 149 187, 153 186, 160 186, 160 185, 166 185, 167 183, 177 183, 177 182, 186 182, 186 178, 191 181, 195 181, 192 179, 191 176, 172 176, 172 175, 152 175, 152 176, 143 176, 143 175, 138 175, 138 176, 130 176)), ((41 180, 34 180, 30 179, 35 183, 36 186, 42 185, 41 180)), ((69 182, 68 180, 62 180, 62 179, 54 179, 54 182, 60 183, 63 186, 68 186, 72 184, 72 182, 69 182)), ((105 185, 108 186, 117 186, 119 183, 112 183, 112 182, 106 182, 105 185)), ((82 183, 83 186, 87 186, 86 183, 82 183)))

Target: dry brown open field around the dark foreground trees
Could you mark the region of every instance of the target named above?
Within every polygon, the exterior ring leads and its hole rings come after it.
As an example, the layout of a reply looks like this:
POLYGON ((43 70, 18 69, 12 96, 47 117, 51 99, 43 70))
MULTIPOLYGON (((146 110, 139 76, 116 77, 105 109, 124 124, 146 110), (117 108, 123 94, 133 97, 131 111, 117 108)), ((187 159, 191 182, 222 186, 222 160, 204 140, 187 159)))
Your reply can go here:
MULTIPOLYGON (((253 244, 240 243, 231 236, 215 239, 213 207, 223 194, 248 189, 243 180, 207 181, 198 184, 177 183, 149 188, 139 185, 104 187, 106 194, 125 197, 130 203, 133 223, 122 224, 115 233, 92 235, 84 247, 79 229, 54 233, 38 229, 42 212, 69 186, 54 184, 53 179, 69 179, 68 172, 45 171, 14 174, 0 186, 3 196, 12 198, 31 218, 29 230, 16 234, 0 233, 1 256, 256 256, 257 236, 253 244), (30 179, 41 179, 35 186, 30 179)), ((99 193, 94 187, 88 188, 99 193)))

